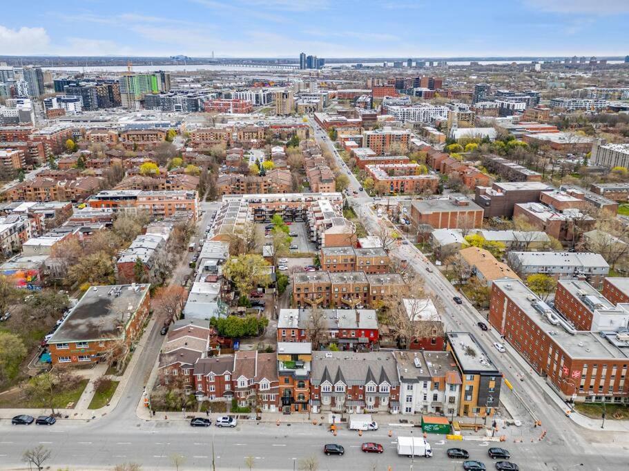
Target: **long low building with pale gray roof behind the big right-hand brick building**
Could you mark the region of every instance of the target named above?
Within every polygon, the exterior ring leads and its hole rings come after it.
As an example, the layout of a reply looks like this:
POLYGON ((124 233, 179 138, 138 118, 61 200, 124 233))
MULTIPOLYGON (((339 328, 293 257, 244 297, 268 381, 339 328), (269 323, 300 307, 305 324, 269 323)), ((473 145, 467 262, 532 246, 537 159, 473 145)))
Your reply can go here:
POLYGON ((543 273, 557 280, 586 279, 597 288, 610 270, 601 254, 592 252, 509 252, 507 261, 522 279, 543 273))

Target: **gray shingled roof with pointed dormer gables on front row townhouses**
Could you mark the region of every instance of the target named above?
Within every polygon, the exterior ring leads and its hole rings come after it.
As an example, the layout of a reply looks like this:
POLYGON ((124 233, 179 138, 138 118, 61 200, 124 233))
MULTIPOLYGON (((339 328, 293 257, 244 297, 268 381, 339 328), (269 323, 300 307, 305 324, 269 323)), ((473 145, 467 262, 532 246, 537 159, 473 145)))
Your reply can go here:
POLYGON ((365 385, 369 381, 399 385, 396 360, 391 352, 313 352, 311 383, 324 381, 348 386, 365 385))

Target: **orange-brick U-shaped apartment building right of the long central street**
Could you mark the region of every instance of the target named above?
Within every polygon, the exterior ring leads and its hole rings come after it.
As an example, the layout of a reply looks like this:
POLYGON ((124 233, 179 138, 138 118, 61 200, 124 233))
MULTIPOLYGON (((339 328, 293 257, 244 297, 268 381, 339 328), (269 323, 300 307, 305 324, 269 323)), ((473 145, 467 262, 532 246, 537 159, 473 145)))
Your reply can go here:
POLYGON ((381 183, 389 194, 434 194, 439 186, 439 177, 435 174, 422 174, 421 166, 417 163, 365 165, 365 171, 374 179, 376 191, 379 190, 378 183, 381 183))

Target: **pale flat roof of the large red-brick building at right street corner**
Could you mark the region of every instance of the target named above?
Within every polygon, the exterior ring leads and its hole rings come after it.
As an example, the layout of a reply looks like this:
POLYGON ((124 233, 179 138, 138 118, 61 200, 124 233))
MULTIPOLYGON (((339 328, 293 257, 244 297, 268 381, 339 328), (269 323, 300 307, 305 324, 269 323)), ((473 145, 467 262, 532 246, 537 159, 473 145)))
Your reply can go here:
POLYGON ((627 357, 621 349, 603 339, 597 332, 566 328, 563 324, 566 323, 569 326, 567 321, 536 297, 521 281, 502 279, 494 281, 494 285, 497 285, 506 297, 511 299, 540 330, 546 332, 548 337, 573 359, 627 357), (549 315, 553 322, 549 320, 549 315))

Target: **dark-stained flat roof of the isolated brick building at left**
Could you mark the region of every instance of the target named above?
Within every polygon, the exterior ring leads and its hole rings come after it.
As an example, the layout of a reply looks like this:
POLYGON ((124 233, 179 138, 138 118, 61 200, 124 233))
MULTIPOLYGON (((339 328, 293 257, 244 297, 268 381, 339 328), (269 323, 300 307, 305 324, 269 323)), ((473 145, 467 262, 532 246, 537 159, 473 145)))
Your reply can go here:
POLYGON ((119 325, 127 325, 148 295, 151 285, 103 285, 90 287, 49 343, 122 339, 119 325))

